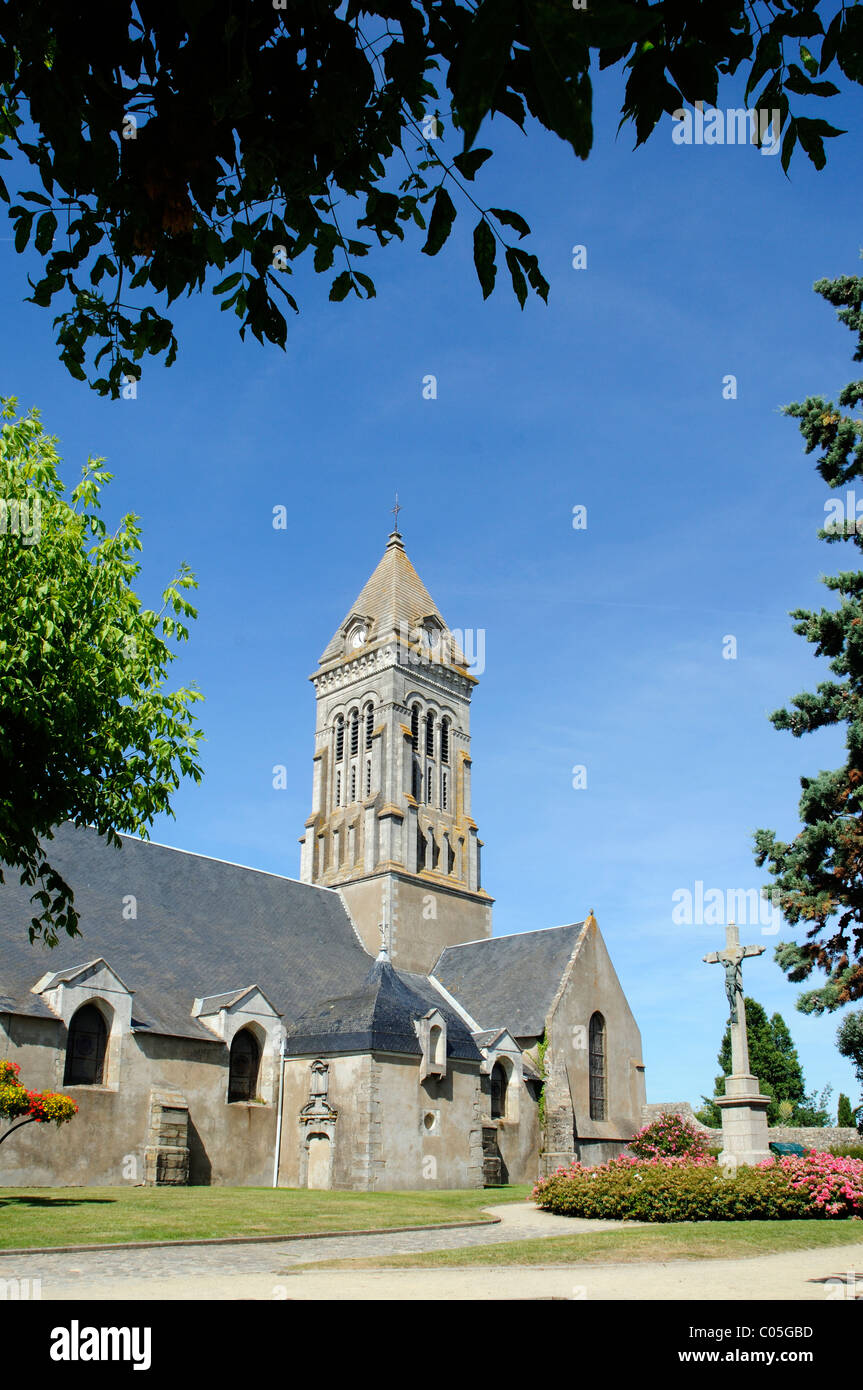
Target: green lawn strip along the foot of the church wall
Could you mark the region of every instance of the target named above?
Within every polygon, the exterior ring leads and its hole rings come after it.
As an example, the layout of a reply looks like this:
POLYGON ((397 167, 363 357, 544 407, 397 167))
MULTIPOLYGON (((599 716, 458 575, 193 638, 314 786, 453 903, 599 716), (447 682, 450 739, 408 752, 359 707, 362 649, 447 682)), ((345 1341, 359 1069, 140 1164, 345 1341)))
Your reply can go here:
POLYGON ((531 1187, 421 1193, 318 1193, 282 1187, 1 1187, 0 1250, 33 1245, 296 1236, 481 1220, 491 1202, 531 1187))

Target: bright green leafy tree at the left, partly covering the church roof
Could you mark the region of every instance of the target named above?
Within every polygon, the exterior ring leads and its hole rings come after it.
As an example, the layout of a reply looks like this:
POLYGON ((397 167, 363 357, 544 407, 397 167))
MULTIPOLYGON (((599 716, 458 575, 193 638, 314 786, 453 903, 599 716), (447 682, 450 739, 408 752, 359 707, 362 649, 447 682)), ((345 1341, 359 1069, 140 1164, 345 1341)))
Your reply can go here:
POLYGON ((31 941, 78 934, 72 890, 43 841, 65 820, 146 835, 181 777, 200 781, 195 688, 165 680, 196 612, 179 567, 163 609, 132 588, 140 527, 111 535, 99 493, 111 474, 88 460, 64 496, 57 441, 38 411, 0 402, 0 883, 3 866, 36 887, 31 941))

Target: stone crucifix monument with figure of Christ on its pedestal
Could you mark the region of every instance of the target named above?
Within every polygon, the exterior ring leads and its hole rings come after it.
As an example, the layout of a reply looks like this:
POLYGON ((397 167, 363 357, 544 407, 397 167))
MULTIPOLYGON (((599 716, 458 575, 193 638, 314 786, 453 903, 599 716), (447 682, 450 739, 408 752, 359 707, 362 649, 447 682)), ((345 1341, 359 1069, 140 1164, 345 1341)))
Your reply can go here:
POLYGON ((716 1104, 723 1112, 723 1152, 718 1161, 725 1166, 759 1163, 763 1158, 770 1158, 767 1137, 770 1097, 762 1095, 757 1077, 749 1070, 742 967, 746 956, 763 952, 764 947, 742 947, 738 930, 734 922, 730 922, 725 927, 725 949, 712 951, 703 958, 707 965, 724 967, 730 1006, 731 1076, 725 1077, 725 1094, 716 1097, 716 1104))

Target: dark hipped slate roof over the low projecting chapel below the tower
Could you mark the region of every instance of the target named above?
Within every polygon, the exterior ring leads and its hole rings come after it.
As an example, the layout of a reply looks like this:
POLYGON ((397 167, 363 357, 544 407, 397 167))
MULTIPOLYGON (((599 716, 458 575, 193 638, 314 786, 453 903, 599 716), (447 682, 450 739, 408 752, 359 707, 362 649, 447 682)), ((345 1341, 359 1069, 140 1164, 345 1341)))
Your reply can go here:
POLYGON ((414 1019, 439 1009, 446 1019, 446 1055, 468 1062, 482 1056, 454 1009, 441 998, 425 976, 395 970, 378 958, 359 990, 340 994, 307 1009, 288 1024, 286 1052, 399 1052, 420 1056, 414 1019))

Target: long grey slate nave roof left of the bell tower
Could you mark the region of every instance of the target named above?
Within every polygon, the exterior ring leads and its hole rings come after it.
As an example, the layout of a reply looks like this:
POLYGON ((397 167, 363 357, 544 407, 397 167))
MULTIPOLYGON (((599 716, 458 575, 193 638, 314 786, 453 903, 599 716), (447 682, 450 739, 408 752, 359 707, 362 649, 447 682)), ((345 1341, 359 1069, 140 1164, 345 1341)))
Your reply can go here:
MULTIPOLYGON (((258 984, 279 1013, 360 988, 371 962, 342 898, 278 874, 170 849, 132 835, 122 848, 63 826, 50 862, 72 885, 83 935, 49 951, 28 940, 32 890, 0 884, 0 1009, 54 1019, 33 984, 103 956, 133 991, 132 1020, 151 1033, 214 1041, 190 1016, 196 999, 258 984), (124 898, 138 919, 122 917, 124 898)), ((429 987, 431 988, 431 987, 429 987)))

